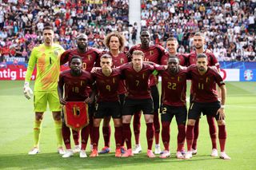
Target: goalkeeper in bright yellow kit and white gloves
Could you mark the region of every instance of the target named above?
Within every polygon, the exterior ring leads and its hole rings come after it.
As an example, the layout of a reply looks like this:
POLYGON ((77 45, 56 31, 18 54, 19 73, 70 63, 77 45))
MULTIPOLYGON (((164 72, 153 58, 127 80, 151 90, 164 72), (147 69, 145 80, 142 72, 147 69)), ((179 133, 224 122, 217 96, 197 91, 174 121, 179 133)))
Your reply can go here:
POLYGON ((34 83, 34 148, 29 155, 39 152, 40 132, 42 129, 43 113, 46 112, 47 103, 54 117, 55 131, 58 139, 58 153, 64 154, 62 148, 62 106, 58 101, 58 75, 60 73, 60 56, 64 52, 61 45, 54 43, 54 30, 50 24, 44 26, 42 32, 43 44, 32 49, 29 64, 26 71, 24 95, 30 99, 30 77, 37 65, 37 78, 34 83))

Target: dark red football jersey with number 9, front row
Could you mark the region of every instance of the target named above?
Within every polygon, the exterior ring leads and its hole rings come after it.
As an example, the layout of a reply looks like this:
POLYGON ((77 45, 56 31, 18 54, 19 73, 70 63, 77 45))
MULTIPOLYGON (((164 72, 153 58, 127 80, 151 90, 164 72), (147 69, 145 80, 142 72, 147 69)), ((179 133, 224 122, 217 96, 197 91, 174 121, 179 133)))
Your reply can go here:
POLYGON ((121 72, 119 69, 112 69, 110 76, 102 73, 102 69, 97 69, 92 73, 96 81, 97 101, 118 101, 118 87, 121 81, 121 72))

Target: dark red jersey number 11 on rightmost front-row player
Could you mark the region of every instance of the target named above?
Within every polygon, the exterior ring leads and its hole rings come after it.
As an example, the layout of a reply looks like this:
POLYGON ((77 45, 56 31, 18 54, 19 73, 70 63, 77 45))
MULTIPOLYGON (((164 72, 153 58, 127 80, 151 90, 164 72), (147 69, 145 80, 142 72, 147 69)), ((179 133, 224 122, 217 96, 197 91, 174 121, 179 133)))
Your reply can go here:
POLYGON ((196 102, 214 102, 218 101, 218 86, 225 85, 221 75, 216 69, 208 67, 205 74, 198 72, 196 65, 190 65, 187 72, 191 78, 192 101, 196 102))

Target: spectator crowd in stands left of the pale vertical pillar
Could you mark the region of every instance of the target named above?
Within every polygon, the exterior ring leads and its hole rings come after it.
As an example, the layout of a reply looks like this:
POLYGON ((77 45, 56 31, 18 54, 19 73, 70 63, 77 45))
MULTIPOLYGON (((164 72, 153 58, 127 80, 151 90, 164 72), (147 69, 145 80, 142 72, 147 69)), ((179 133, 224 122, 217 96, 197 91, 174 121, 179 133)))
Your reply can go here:
POLYGON ((104 49, 106 34, 117 30, 129 39, 128 0, 0 0, 1 60, 30 56, 42 43, 44 22, 54 25, 55 41, 65 49, 85 33, 88 44, 104 49))

